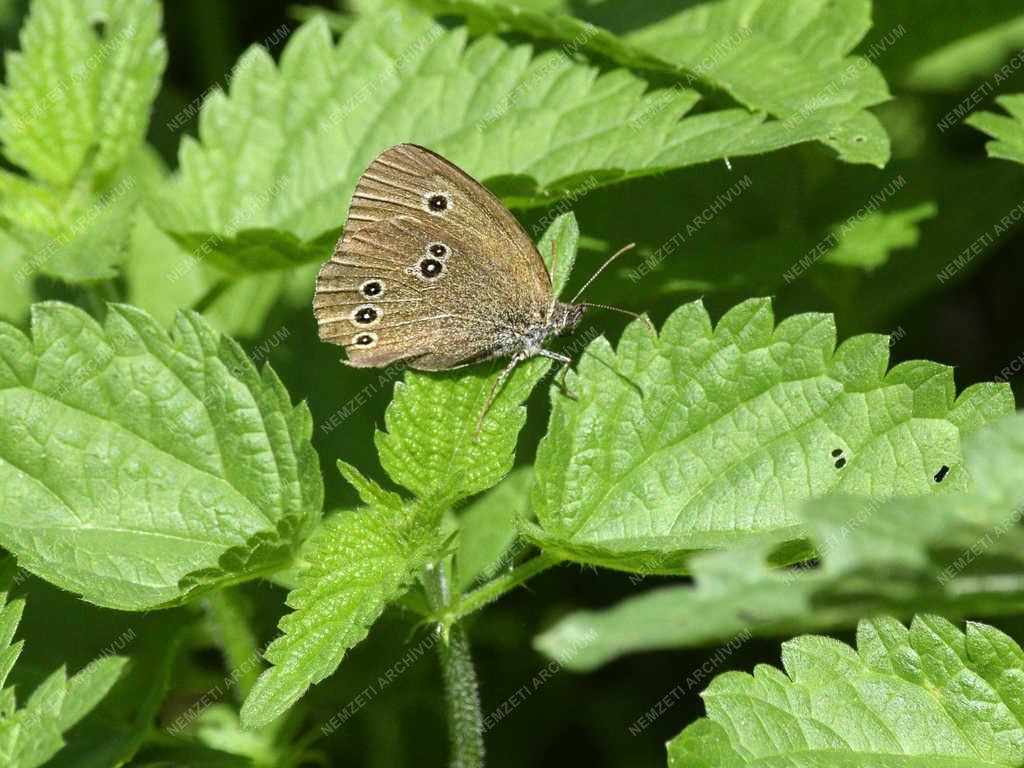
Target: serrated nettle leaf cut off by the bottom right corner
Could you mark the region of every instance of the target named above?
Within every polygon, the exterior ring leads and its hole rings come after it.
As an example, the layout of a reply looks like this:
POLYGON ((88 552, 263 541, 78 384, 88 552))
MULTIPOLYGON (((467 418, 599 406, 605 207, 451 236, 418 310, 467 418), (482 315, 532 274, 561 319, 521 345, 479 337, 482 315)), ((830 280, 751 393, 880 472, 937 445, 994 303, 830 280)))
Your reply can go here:
POLYGON ((983 624, 921 615, 861 622, 857 648, 828 637, 782 645, 783 671, 727 672, 708 717, 669 742, 673 768, 1019 766, 1024 652, 983 624))

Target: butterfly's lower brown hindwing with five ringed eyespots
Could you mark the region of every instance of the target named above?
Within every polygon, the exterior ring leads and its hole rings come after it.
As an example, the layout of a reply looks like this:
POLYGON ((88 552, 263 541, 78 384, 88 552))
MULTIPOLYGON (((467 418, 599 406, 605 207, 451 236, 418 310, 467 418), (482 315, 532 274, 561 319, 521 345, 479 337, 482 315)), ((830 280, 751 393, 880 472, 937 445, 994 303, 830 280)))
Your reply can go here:
POLYGON ((539 307, 494 262, 434 221, 394 216, 349 232, 321 269, 321 338, 357 368, 440 371, 505 351, 539 307))

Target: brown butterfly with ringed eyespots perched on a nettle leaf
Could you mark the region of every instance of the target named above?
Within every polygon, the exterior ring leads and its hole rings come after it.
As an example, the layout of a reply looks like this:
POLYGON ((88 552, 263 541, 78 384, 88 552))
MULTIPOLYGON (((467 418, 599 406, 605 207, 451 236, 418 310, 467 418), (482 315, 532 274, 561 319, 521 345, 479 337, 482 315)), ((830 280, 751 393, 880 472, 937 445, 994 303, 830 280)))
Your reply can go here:
POLYGON ((511 357, 479 429, 519 362, 535 355, 571 361, 542 344, 571 332, 588 306, 640 316, 574 303, 632 247, 605 261, 571 301, 558 301, 537 247, 498 198, 439 155, 396 144, 359 178, 344 233, 316 278, 319 337, 343 346, 356 368, 403 361, 447 371, 511 357))

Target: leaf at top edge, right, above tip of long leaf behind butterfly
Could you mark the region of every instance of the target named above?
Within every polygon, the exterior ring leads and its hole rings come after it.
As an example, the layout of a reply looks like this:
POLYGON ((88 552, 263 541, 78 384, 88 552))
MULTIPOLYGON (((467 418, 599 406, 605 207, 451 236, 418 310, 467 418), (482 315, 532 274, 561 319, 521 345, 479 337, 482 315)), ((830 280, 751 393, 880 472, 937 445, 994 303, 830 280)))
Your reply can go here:
MULTIPOLYGON (((882 73, 849 55, 871 27, 870 0, 761 0, 703 3, 641 28, 625 39, 699 72, 752 110, 815 138, 850 163, 889 161, 889 136, 867 108, 887 101, 882 73)), ((884 50, 884 49, 883 49, 884 50)))

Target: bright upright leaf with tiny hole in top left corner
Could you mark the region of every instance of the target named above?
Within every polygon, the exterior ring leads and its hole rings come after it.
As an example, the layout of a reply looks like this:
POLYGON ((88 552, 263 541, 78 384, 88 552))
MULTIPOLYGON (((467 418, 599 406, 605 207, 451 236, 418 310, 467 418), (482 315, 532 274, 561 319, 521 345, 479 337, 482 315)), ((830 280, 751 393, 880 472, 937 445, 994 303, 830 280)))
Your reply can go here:
POLYGON ((156 0, 34 0, 22 50, 4 61, 4 156, 58 187, 87 166, 113 173, 145 135, 167 60, 160 22, 156 0))

